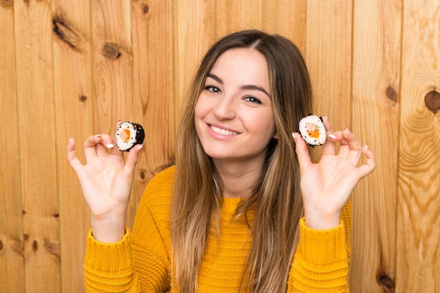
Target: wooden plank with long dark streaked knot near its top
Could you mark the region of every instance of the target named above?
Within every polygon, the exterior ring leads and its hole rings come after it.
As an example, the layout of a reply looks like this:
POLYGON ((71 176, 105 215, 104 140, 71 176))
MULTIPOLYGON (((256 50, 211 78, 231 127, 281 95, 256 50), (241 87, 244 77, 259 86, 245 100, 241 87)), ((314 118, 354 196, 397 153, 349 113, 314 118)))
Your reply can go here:
POLYGON ((85 292, 84 254, 90 212, 75 171, 66 159, 67 138, 85 164, 86 137, 93 134, 89 1, 52 1, 57 181, 60 204, 61 290, 85 292))

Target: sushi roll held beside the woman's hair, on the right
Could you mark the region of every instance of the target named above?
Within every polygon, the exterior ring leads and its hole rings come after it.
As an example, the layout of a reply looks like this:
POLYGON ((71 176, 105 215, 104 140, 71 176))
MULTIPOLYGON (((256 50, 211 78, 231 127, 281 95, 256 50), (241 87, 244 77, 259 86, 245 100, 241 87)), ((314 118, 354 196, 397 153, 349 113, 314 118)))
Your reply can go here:
POLYGON ((327 134, 321 117, 309 115, 299 120, 299 134, 311 146, 323 145, 327 134))

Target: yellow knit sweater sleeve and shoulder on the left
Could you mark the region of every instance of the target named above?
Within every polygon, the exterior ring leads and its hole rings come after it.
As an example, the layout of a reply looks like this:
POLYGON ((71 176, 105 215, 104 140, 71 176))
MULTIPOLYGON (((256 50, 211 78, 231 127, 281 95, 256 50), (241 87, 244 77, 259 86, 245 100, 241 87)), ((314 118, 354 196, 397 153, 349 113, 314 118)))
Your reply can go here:
POLYGON ((169 197, 172 169, 153 178, 145 188, 134 219, 133 233, 105 244, 87 237, 84 276, 86 291, 166 292, 169 273, 169 197))

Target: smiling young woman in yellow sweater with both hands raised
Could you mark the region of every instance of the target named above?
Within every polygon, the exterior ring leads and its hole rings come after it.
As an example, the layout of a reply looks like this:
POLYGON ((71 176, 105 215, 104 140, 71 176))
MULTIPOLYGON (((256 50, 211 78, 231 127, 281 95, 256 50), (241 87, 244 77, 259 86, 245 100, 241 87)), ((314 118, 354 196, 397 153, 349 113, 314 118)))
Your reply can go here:
POLYGON ((375 162, 323 115, 328 140, 313 164, 295 132, 311 101, 291 41, 255 30, 220 39, 188 93, 176 166, 148 184, 132 234, 125 217, 142 145, 124 161, 113 138, 90 136, 83 165, 70 138, 91 209, 88 291, 349 292, 348 200, 375 162))

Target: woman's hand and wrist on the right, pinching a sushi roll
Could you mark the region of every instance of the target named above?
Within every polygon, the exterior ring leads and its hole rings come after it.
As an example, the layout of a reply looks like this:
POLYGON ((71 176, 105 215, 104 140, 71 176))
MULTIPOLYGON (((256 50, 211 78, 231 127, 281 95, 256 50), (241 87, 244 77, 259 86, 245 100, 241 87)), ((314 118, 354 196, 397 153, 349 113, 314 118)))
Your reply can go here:
POLYGON ((349 129, 332 132, 328 118, 325 115, 322 118, 328 138, 318 164, 311 162, 301 136, 293 134, 306 225, 318 230, 339 226, 342 209, 356 184, 375 169, 374 155, 367 145, 362 146, 349 129), (336 143, 340 143, 337 154, 336 143), (362 155, 366 162, 358 167, 362 155))

